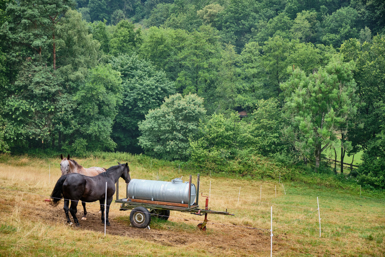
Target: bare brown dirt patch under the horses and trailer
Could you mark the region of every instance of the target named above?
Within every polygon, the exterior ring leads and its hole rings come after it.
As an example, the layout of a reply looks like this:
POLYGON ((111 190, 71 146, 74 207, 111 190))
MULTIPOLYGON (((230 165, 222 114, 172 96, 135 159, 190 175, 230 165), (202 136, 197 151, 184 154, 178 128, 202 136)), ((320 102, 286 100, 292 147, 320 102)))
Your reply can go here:
MULTIPOLYGON (((9 204, 9 203, 8 203, 9 204)), ((90 205, 90 204, 89 204, 90 205)), ((101 222, 101 215, 97 213, 95 206, 87 206, 87 220, 80 220, 83 210, 78 206, 78 218, 80 227, 74 229, 90 230, 104 233, 104 224, 101 222)), ((57 221, 65 223, 65 214, 60 203, 56 208, 50 206, 47 202, 37 201, 35 208, 24 210, 23 215, 28 215, 31 219, 40 218, 45 222, 55 223, 57 221)), ((172 220, 172 213, 170 220, 172 220)), ((112 211, 109 214, 110 226, 106 228, 106 233, 122 237, 141 238, 156 244, 164 246, 175 245, 200 245, 210 253, 218 253, 218 250, 236 250, 238 256, 257 255, 259 252, 268 252, 269 232, 256 229, 241 227, 223 226, 218 224, 208 224, 208 232, 202 232, 198 229, 192 231, 174 231, 171 229, 141 229, 129 226, 129 222, 116 219, 119 215, 128 215, 129 211, 112 211)), ((70 216, 72 220, 72 216, 70 216)), ((175 220, 175 222, 194 222, 175 220)), ((276 240, 275 240, 275 243, 276 240)))

